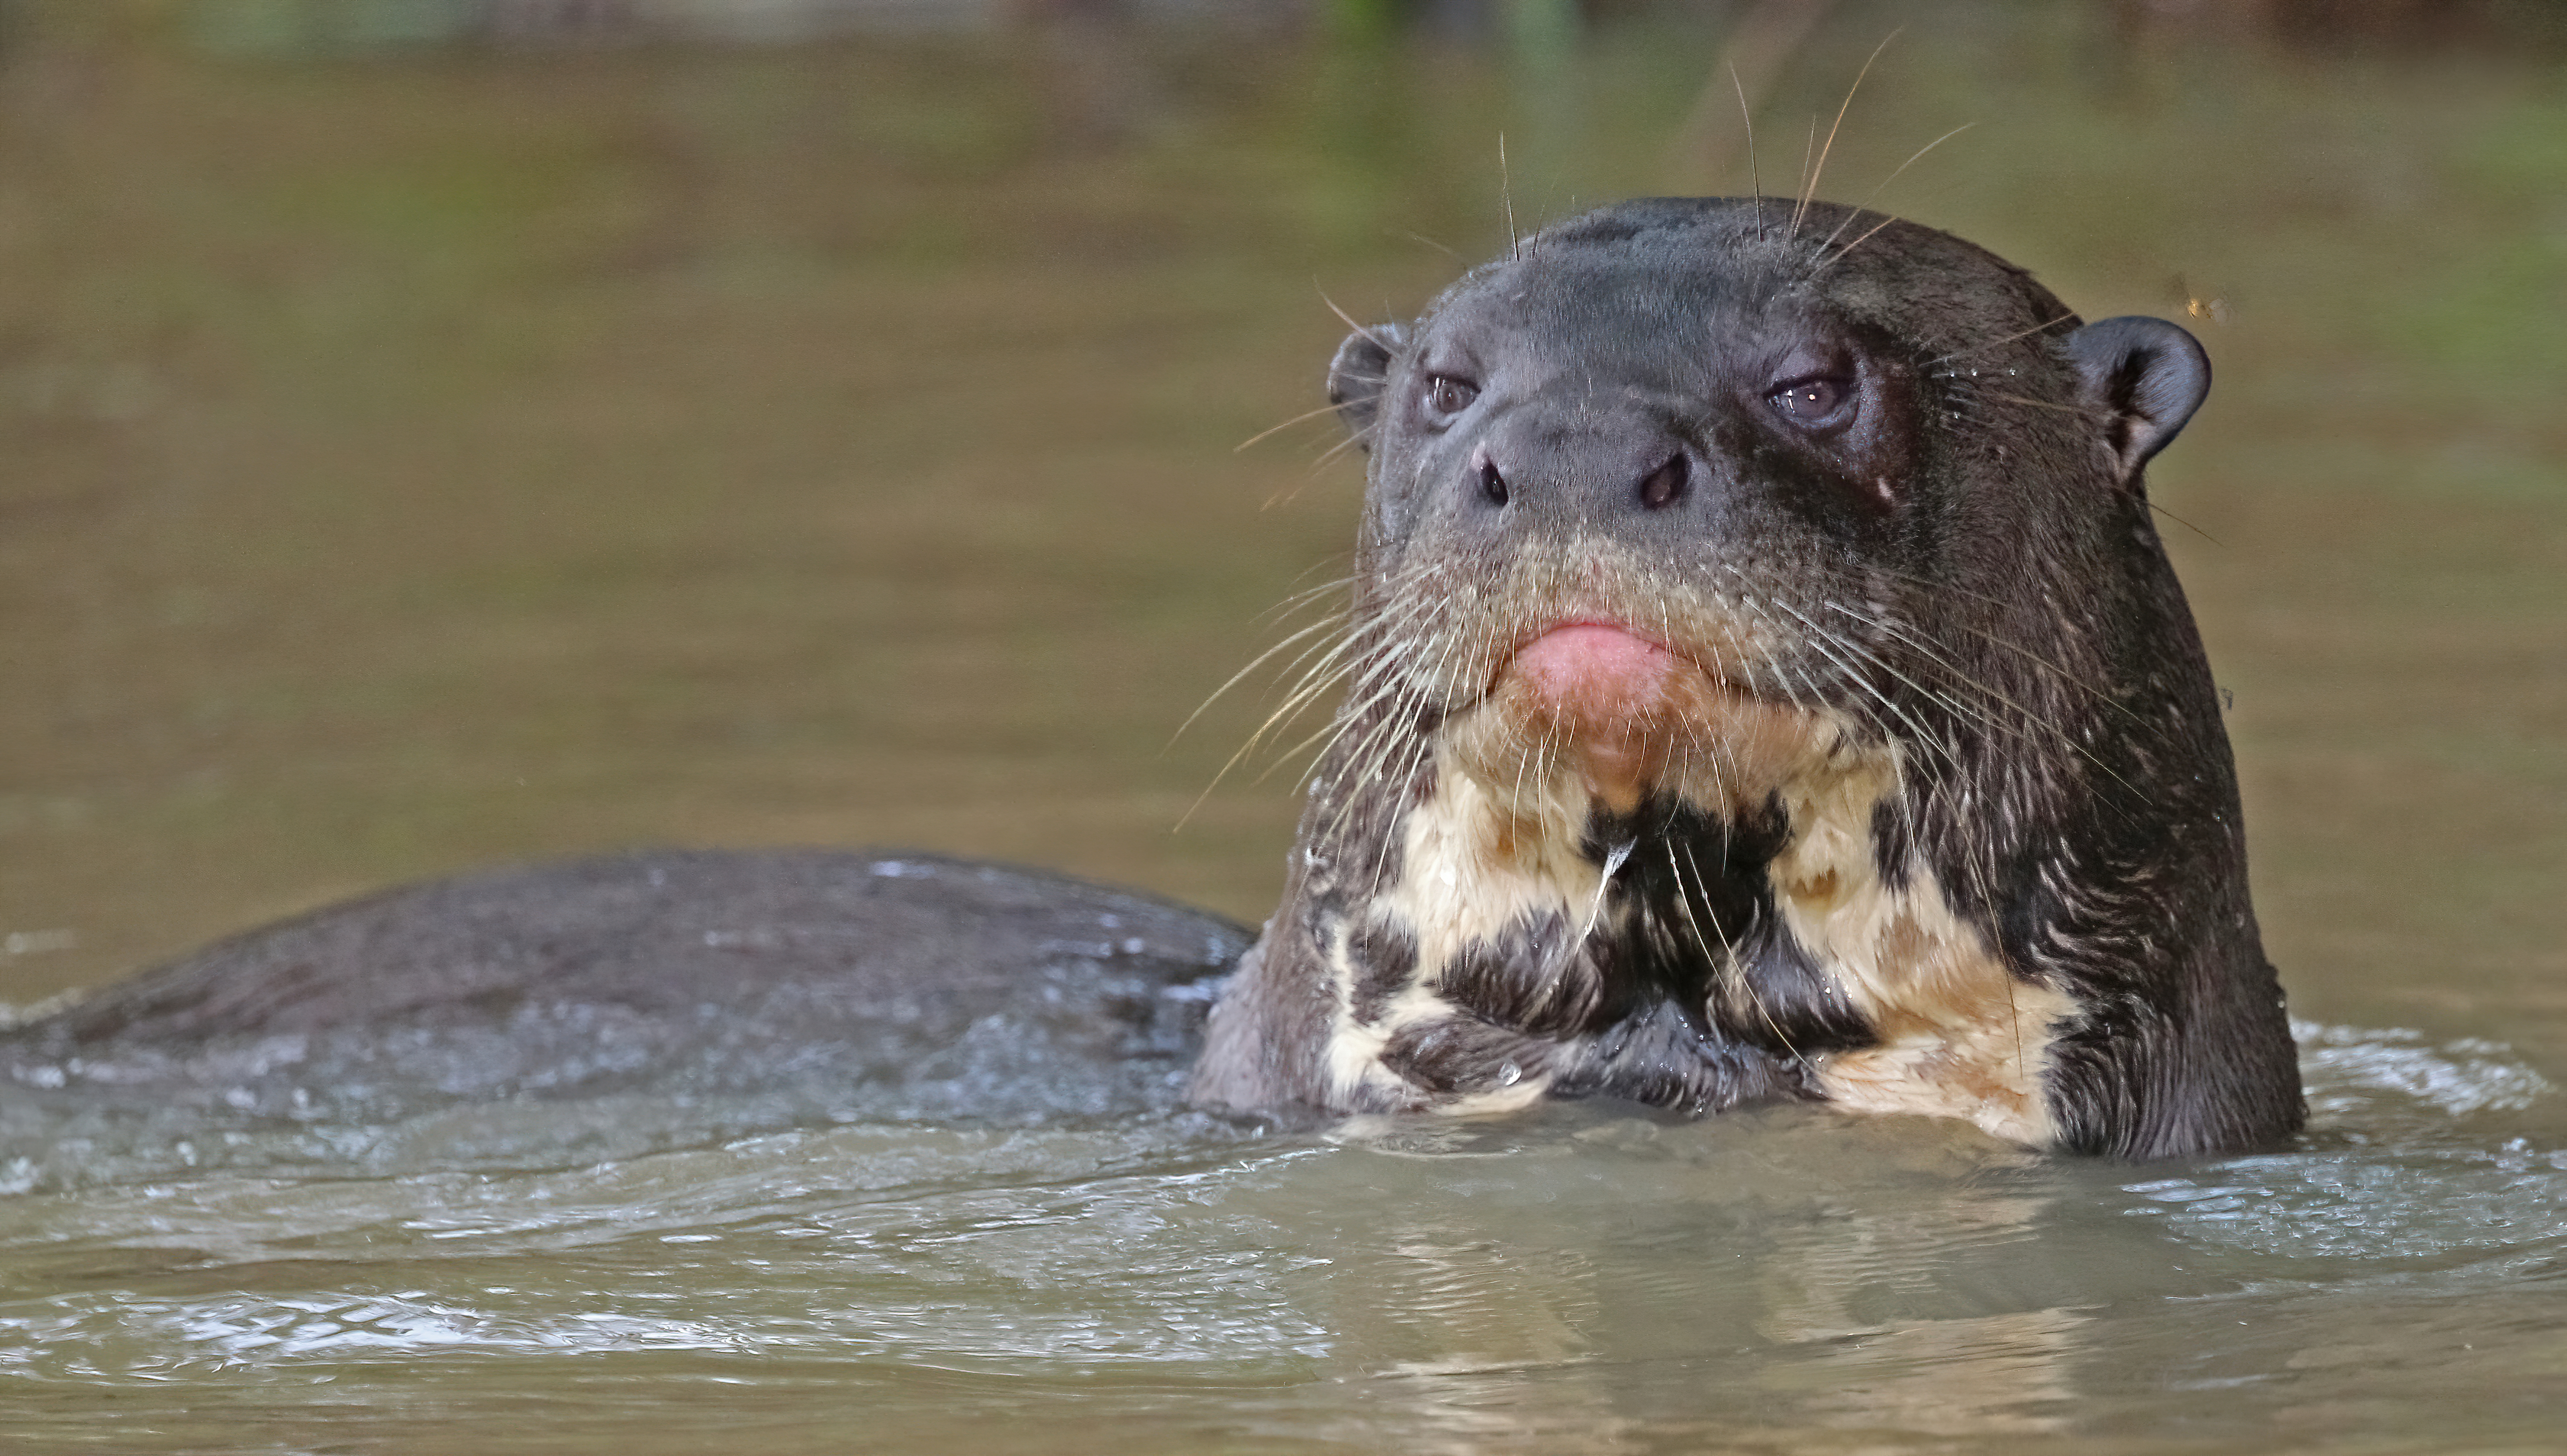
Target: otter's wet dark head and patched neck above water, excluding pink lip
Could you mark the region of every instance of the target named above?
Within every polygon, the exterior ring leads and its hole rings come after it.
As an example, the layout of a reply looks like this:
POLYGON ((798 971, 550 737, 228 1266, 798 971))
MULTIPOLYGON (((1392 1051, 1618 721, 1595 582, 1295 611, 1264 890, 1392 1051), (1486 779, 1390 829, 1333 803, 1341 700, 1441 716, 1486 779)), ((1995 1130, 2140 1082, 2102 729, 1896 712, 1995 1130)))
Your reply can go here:
POLYGON ((1330 388, 1371 452, 1348 693, 1196 1102, 2297 1130, 2141 470, 2208 388, 2190 336, 1879 213, 1658 198, 1358 331, 1330 388), (1520 670, 1589 621, 1671 663, 1638 716, 1520 670))

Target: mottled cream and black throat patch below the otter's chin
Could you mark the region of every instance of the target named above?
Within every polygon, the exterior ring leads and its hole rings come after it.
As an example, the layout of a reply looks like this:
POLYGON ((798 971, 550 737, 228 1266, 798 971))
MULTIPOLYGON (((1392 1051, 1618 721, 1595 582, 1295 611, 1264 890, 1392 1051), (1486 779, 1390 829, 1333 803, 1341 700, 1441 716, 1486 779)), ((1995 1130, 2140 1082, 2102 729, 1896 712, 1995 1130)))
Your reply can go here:
POLYGON ((1438 773, 1396 873, 1335 917, 1335 1102, 1825 1099, 2048 1140, 2074 1007, 2007 973, 1928 871, 1884 871, 1894 791, 1892 750, 1846 747, 1748 814, 1658 793, 1558 835, 1438 773))

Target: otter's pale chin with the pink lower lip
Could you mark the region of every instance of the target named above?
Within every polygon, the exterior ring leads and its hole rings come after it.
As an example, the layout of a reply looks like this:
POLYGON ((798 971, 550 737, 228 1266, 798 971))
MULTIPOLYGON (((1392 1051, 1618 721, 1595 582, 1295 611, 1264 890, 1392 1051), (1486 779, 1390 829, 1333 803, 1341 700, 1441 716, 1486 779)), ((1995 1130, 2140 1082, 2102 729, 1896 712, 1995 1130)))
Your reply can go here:
POLYGON ((1563 796, 1617 817, 1656 793, 1748 809, 1838 740, 1817 714, 1761 701, 1604 621, 1568 621, 1520 647, 1445 732, 1463 773, 1520 817, 1563 796))

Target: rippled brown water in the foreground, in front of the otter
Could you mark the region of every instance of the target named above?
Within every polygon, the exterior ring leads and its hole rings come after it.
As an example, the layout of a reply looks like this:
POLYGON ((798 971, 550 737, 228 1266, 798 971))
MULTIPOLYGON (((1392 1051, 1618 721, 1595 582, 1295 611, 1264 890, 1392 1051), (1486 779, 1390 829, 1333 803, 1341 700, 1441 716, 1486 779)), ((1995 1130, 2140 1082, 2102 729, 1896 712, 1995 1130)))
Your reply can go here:
MULTIPOLYGON (((2418 1369, 2472 1325, 2505 1325, 2511 1364, 2567 1338, 2567 1153, 2464 1120, 2557 1096, 2485 1043, 2303 1032, 2336 1107, 2308 1148, 2143 1171, 1941 1122, 1556 1107, 1301 1138, 847 1125, 580 1168, 21 1194, 0 1376, 41 1448, 77 1448, 108 1397, 146 1420, 326 1389, 377 1441, 406 1410, 565 1387, 611 1392, 637 1451, 706 1438, 680 1392, 716 1389, 847 1438, 873 1430, 857 1410, 901 1430, 919 1402, 1027 1415, 1078 1389, 1173 1451, 1319 1435, 1353 1389, 1366 1441, 1455 1448, 1740 1423, 2113 1448, 2167 1387, 2251 1448, 2277 1402, 2377 1394, 2380 1320, 2418 1369)), ((524 1143, 590 1125, 513 1112, 524 1143)))

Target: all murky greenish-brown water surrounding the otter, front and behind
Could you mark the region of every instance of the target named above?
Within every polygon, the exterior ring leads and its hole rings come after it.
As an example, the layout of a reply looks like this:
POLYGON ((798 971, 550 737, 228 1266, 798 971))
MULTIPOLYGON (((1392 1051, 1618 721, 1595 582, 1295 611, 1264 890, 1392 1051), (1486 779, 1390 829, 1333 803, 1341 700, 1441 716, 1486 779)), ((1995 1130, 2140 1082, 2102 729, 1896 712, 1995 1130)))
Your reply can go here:
MULTIPOLYGON (((1171 835, 1255 693, 1163 745, 1340 570, 1327 424, 1232 455, 1319 403, 1325 298, 1502 244, 1499 134, 1522 221, 1748 182, 1717 18, 1509 72, 1271 31, 205 62, 108 10, 0 56, 18 1004, 637 842, 1260 917, 1289 770, 1171 835)), ((2200 303, 2218 385, 2151 475, 2305 1148, 1586 1109, 470 1174, 459 1122, 349 1130, 349 1176, 100 1148, 0 1194, 0 1443, 2554 1448, 2567 59, 1843 5, 1761 100, 1766 187, 1900 21, 1828 193, 1977 123, 1879 203, 2087 316, 2200 303)))

